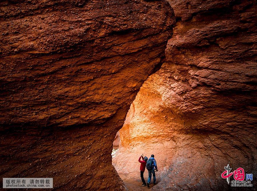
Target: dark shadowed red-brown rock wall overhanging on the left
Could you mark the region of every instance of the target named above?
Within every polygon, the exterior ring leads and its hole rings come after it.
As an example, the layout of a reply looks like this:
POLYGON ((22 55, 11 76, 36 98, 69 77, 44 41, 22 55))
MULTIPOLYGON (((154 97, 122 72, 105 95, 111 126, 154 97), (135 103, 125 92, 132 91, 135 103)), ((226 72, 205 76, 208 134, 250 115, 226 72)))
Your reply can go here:
POLYGON ((172 35, 166 1, 1 1, 0 180, 123 190, 112 143, 172 35))

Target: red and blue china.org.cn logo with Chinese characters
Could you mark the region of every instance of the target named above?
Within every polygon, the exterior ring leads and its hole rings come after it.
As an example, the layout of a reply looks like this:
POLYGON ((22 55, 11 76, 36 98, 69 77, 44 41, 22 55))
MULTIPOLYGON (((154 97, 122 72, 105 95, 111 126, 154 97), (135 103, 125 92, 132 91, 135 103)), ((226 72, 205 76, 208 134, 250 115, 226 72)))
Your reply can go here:
POLYGON ((233 172, 230 172, 232 168, 230 168, 229 164, 227 166, 224 166, 225 171, 221 174, 222 178, 225 178, 229 184, 229 178, 230 176, 234 175, 234 180, 232 180, 231 186, 252 186, 252 174, 245 174, 244 175, 244 169, 243 168, 237 168, 233 172), (245 178, 245 180, 244 180, 245 178))

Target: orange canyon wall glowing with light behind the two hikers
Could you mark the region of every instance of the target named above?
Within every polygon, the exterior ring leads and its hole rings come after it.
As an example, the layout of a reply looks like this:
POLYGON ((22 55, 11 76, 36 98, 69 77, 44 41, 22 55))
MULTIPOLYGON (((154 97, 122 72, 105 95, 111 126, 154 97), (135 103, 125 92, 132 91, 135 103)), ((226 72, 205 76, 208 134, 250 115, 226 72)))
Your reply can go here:
POLYGON ((229 189, 227 164, 256 176, 256 4, 169 3, 177 22, 166 62, 130 106, 114 166, 140 179, 138 157, 154 154, 152 190, 229 189))

